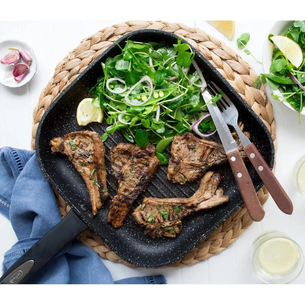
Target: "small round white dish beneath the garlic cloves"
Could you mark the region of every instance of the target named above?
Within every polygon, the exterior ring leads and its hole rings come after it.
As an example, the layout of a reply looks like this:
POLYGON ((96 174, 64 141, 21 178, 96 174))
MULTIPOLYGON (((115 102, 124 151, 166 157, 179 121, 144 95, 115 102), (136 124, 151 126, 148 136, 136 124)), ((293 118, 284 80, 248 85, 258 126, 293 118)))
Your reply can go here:
MULTIPOLYGON (((32 63, 30 64, 30 70, 23 76, 23 78, 16 82, 13 77, 13 67, 10 65, 5 65, 0 63, 0 83, 4 86, 11 87, 11 88, 18 88, 25 84, 27 84, 35 75, 37 70, 37 59, 33 49, 23 41, 20 40, 5 40, 0 42, 0 58, 4 57, 6 54, 11 52, 8 48, 19 48, 26 50, 30 56, 32 57, 32 63)), ((20 62, 23 62, 20 59, 20 62)))

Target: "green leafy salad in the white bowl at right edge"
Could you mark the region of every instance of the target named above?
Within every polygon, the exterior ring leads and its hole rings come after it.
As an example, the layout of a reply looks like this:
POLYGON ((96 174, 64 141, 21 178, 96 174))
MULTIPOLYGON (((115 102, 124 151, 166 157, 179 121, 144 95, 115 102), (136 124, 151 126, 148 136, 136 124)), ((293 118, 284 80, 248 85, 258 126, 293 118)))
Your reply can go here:
MULTIPOLYGON (((305 98, 305 21, 295 21, 293 26, 284 34, 285 37, 296 42, 303 53, 303 61, 298 67, 294 66, 285 54, 277 47, 274 48, 270 74, 260 74, 254 86, 260 88, 261 83, 267 82, 271 89, 281 91, 281 94, 272 94, 272 97, 279 102, 287 101, 289 104, 301 113, 304 107, 305 98)), ((269 35, 272 41, 273 35, 269 35)), ((274 36, 276 37, 276 36, 274 36)))

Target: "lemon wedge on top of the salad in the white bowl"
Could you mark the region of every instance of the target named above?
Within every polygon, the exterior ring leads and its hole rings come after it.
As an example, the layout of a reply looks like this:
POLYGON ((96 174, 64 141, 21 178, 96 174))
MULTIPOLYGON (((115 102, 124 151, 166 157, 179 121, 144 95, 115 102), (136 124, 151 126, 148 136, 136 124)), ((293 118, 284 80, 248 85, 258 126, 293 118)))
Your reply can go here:
POLYGON ((303 53, 295 41, 285 36, 272 36, 270 39, 294 66, 298 68, 301 65, 303 62, 303 53))

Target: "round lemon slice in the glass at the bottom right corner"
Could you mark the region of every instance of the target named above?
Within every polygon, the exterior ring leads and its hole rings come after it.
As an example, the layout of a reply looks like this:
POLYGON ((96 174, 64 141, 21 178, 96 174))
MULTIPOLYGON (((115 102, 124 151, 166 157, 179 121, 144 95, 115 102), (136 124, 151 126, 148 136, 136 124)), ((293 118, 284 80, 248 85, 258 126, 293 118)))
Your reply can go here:
POLYGON ((298 260, 298 249, 289 239, 275 237, 266 240, 258 251, 260 265, 272 274, 290 271, 298 260))

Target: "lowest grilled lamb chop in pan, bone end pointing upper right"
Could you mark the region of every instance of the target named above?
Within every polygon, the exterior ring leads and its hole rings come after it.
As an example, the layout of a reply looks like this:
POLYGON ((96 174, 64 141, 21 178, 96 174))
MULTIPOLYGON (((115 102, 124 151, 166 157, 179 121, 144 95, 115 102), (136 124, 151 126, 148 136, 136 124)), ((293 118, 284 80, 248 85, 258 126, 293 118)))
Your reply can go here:
POLYGON ((152 238, 176 237, 182 229, 181 219, 203 209, 228 202, 228 196, 218 188, 221 174, 207 172, 201 179, 199 189, 190 198, 144 198, 143 204, 132 213, 135 221, 145 227, 145 234, 152 238))

